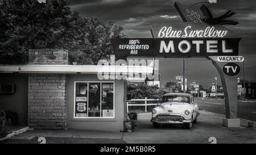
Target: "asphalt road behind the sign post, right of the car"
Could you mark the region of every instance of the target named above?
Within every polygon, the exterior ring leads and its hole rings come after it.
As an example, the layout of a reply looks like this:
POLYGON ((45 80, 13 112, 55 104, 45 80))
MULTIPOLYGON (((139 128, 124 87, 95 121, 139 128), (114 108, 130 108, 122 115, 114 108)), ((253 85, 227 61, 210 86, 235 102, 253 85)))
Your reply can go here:
MULTIPOLYGON (((200 110, 206 110, 217 114, 225 115, 224 99, 196 99, 200 110)), ((238 118, 256 121, 256 101, 246 102, 238 100, 238 118)))

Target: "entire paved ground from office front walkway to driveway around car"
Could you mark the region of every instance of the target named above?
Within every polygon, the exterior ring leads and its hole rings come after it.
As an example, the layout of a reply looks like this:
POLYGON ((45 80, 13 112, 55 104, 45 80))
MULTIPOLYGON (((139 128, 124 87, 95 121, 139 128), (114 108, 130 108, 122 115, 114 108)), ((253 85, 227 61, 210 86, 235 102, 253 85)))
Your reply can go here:
MULTIPOLYGON (((106 131, 85 131, 80 129, 68 129, 65 131, 27 131, 15 139, 35 139, 35 137, 52 137, 53 139, 66 138, 68 143, 77 143, 77 139, 109 139, 119 140, 126 143, 210 143, 210 137, 216 137, 217 143, 256 143, 256 128, 226 128, 222 127, 224 115, 212 112, 200 111, 197 124, 192 129, 182 126, 163 125, 160 128, 153 128, 150 123, 151 113, 138 115, 138 127, 135 132, 106 132, 106 131)), ((7 140, 8 141, 8 140, 7 140)), ((9 141, 10 142, 10 141, 9 141)), ((111 141, 110 141, 111 142, 111 141)), ((118 142, 118 141, 117 141, 118 142)), ((53 142, 57 143, 57 141, 53 142)), ((95 141, 92 143, 95 143, 95 141)))

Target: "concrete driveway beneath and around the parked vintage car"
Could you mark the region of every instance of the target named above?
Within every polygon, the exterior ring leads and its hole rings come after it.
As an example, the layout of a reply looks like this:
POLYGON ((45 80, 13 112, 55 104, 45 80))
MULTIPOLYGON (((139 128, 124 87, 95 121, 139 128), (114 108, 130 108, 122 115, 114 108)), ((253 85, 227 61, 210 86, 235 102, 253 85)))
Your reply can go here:
POLYGON ((222 127, 224 115, 200 111, 197 124, 192 129, 182 126, 163 125, 153 128, 150 123, 151 113, 139 114, 135 132, 127 132, 123 140, 127 143, 210 143, 215 137, 217 143, 256 143, 255 128, 222 127))

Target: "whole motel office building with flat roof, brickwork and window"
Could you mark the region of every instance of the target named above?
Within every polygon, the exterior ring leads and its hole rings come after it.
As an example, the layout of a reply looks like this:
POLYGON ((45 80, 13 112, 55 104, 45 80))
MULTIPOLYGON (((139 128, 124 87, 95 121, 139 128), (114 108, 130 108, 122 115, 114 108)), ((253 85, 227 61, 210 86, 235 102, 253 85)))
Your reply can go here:
POLYGON ((152 73, 147 66, 68 65, 68 51, 30 50, 27 65, 0 65, 0 109, 34 129, 123 131, 126 79, 99 79, 100 70, 152 73))

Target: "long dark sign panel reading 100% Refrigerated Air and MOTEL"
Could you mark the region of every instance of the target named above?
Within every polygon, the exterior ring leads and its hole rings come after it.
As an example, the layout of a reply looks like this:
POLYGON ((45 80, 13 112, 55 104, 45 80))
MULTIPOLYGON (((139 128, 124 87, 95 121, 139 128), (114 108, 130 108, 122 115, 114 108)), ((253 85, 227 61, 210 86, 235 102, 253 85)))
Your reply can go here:
POLYGON ((238 56, 240 38, 113 39, 114 53, 124 57, 238 56), (129 44, 132 40, 139 43, 129 44))

